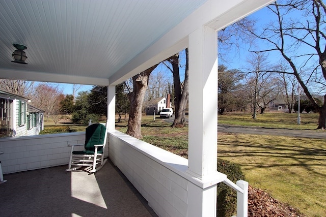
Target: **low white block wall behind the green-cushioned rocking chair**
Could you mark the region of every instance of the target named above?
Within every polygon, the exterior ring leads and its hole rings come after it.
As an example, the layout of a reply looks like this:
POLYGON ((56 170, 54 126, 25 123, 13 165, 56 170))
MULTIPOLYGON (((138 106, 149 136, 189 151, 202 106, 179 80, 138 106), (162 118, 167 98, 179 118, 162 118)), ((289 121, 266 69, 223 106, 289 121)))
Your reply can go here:
MULTIPOLYGON (((4 154, 0 160, 3 173, 68 165, 71 150, 69 145, 84 142, 85 132, 2 138, 0 151, 4 154)), ((106 156, 107 152, 106 146, 106 156)))

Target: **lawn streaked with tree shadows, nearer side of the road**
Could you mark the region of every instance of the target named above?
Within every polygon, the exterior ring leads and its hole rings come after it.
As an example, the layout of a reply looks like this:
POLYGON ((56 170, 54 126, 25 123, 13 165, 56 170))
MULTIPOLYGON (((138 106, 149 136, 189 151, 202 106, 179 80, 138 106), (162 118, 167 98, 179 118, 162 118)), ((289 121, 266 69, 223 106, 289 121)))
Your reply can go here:
POLYGON ((219 158, 239 164, 251 185, 307 216, 324 216, 324 140, 222 133, 218 137, 219 158))

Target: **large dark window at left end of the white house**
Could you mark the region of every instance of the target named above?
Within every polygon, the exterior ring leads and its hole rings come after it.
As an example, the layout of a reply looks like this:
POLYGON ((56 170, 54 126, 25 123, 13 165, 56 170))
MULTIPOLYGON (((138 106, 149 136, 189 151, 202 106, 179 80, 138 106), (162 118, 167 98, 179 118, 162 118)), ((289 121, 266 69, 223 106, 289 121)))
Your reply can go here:
POLYGON ((0 98, 0 137, 12 136, 12 103, 10 99, 0 98))

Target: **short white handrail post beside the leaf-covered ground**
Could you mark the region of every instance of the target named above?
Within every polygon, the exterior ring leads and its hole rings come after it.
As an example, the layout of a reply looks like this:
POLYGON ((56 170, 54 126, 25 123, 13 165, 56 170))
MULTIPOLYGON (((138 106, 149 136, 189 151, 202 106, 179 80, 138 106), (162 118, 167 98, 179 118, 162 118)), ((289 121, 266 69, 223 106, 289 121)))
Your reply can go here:
POLYGON ((243 190, 243 193, 237 191, 236 194, 236 216, 248 217, 248 182, 238 180, 236 185, 243 190))

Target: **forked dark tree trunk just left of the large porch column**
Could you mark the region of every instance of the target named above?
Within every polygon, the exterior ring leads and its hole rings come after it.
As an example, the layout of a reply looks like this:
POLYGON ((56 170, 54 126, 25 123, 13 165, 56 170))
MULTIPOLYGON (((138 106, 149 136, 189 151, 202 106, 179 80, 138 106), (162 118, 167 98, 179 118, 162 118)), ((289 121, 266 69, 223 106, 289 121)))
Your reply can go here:
POLYGON ((179 55, 175 55, 170 63, 173 67, 174 82, 174 107, 175 117, 171 127, 184 127, 186 125, 185 110, 188 102, 188 49, 185 49, 186 63, 184 72, 183 88, 181 88, 179 74, 179 55))

